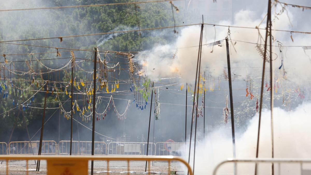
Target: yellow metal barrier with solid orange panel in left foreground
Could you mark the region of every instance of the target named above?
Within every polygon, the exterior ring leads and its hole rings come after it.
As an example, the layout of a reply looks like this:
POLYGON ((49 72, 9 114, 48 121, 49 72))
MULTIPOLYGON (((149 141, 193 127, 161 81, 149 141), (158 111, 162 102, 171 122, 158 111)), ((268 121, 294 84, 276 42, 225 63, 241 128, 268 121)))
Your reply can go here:
MULTIPOLYGON (((171 174, 171 167, 170 164, 171 162, 180 162, 183 163, 187 168, 188 168, 188 172, 189 175, 193 175, 192 174, 192 170, 191 167, 189 166, 189 164, 182 158, 179 157, 174 157, 174 156, 89 156, 89 155, 63 155, 63 156, 59 156, 59 155, 33 155, 33 156, 29 156, 29 155, 2 155, 0 156, 0 160, 5 160, 6 163, 6 174, 9 174, 9 161, 10 160, 26 160, 26 174, 29 174, 28 171, 28 161, 29 160, 47 160, 47 173, 48 175, 52 174, 53 171, 57 171, 57 168, 53 168, 54 166, 59 166, 59 165, 63 165, 66 166, 66 164, 68 166, 74 164, 74 163, 79 163, 80 167, 86 167, 87 168, 87 163, 89 160, 98 160, 98 161, 107 161, 107 171, 105 171, 105 173, 109 174, 109 162, 110 161, 126 161, 127 162, 127 174, 131 174, 130 170, 130 162, 131 161, 147 161, 148 162, 148 168, 147 168, 147 172, 148 174, 151 174, 151 169, 150 169, 150 162, 151 161, 158 161, 158 162, 167 162, 168 163, 168 167, 167 167, 167 173, 171 174), (50 162, 50 163, 49 163, 50 162), (65 163, 63 163, 65 162, 65 163), (81 162, 84 163, 84 165, 81 165, 81 162), (86 163, 86 165, 85 165, 86 163)), ((165 166, 166 167, 166 166, 165 166)), ((65 167, 66 168, 66 167, 65 167)), ((81 168, 80 168, 81 169, 81 168)), ((68 169, 67 169, 68 170, 68 169)), ((68 170, 69 171, 69 170, 68 170)), ((67 172, 67 174, 70 174, 70 172, 67 172)), ((73 173, 72 173, 73 174, 73 173)), ((85 173, 85 171, 80 171, 80 173, 78 173, 80 175, 86 175, 87 171, 85 173), (84 173, 82 173, 84 172, 84 173)))

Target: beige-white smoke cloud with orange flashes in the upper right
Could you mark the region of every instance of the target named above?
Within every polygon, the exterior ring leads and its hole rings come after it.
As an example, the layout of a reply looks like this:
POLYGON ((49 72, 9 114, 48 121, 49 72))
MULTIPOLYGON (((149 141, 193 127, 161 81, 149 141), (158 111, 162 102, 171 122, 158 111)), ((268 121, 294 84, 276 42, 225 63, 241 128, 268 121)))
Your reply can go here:
MULTIPOLYGON (((277 10, 276 10, 277 11, 277 10)), ((244 10, 235 14, 233 24, 228 21, 220 21, 220 24, 229 26, 247 26, 265 28, 265 21, 262 21, 264 15, 260 18, 254 18, 254 12, 244 10), (262 22, 261 22, 262 21, 262 22)), ((294 17, 289 14, 281 14, 273 21, 273 29, 290 30, 291 21, 294 17), (289 16, 289 17, 288 17, 289 16)), ((262 55, 259 53, 256 43, 260 45, 260 49, 264 49, 265 30, 220 27, 220 26, 204 26, 203 41, 202 41, 202 69, 209 69, 210 75, 217 77, 223 74, 224 68, 227 67, 226 60, 226 44, 225 37, 229 36, 232 40, 230 44, 230 59, 231 67, 241 67, 248 69, 234 69, 234 74, 240 76, 247 76, 249 74, 259 73, 262 69, 262 55), (230 31, 230 32, 229 32, 230 31), (258 33, 260 31, 260 35, 258 33), (222 40, 221 43, 216 43, 212 46, 214 41, 222 40), (251 42, 245 43, 241 41, 251 42), (210 44, 211 43, 211 44, 210 44), (253 43, 253 44, 252 44, 253 43), (258 69, 250 69, 250 68, 258 69)), ((193 83, 195 78, 195 70, 197 66, 198 45, 200 38, 201 27, 189 26, 181 29, 178 39, 169 45, 156 46, 150 52, 142 52, 137 57, 141 59, 141 64, 146 72, 146 75, 152 79, 163 77, 179 77, 181 83, 193 83)), ((304 79, 311 78, 311 73, 307 66, 311 61, 308 56, 310 51, 302 49, 302 47, 283 47, 280 45, 307 45, 309 35, 291 34, 289 32, 273 31, 272 57, 274 68, 280 71, 284 78, 295 78, 297 76, 304 77, 304 79), (278 69, 281 66, 281 58, 284 58, 284 69, 278 69), (299 58, 299 61, 296 59, 299 58), (302 69, 297 69, 302 68, 302 69)), ((230 39, 229 38, 229 39, 230 39)), ((266 64, 269 66, 269 63, 266 64)), ((201 69, 201 70, 202 70, 201 69)), ((258 74, 258 75, 259 75, 258 74)), ((298 80, 295 80, 298 81, 298 80)))

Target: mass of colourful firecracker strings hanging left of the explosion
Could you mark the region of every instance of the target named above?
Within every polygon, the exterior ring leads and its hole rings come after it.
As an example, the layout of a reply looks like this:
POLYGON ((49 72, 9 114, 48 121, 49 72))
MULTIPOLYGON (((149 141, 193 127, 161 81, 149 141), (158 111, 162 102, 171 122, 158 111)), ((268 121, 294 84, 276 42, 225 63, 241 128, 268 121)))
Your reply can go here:
MULTIPOLYGON (((73 109, 72 112, 75 114, 76 112, 82 118, 82 121, 88 122, 92 118, 92 95, 94 94, 93 89, 93 81, 96 79, 97 81, 97 88, 96 88, 96 106, 97 109, 95 111, 96 119, 101 120, 107 115, 107 112, 111 109, 114 110, 115 115, 118 117, 118 120, 126 119, 127 110, 130 106, 131 100, 127 101, 127 105, 124 108, 124 112, 120 112, 121 110, 116 108, 116 104, 114 102, 113 95, 110 95, 109 100, 107 101, 106 94, 117 94, 118 92, 131 92, 134 95, 134 100, 132 103, 136 103, 138 109, 143 110, 146 109, 148 96, 150 95, 150 80, 146 77, 141 77, 136 75, 135 72, 139 71, 137 66, 134 64, 132 58, 134 57, 133 54, 128 53, 109 53, 104 52, 100 53, 97 50, 99 61, 97 61, 98 69, 94 73, 93 71, 86 70, 82 67, 83 61, 92 61, 90 59, 84 59, 82 61, 77 61, 76 56, 73 51, 70 52, 71 57, 66 61, 65 64, 58 67, 57 69, 52 69, 48 65, 44 64, 42 60, 37 59, 35 54, 29 54, 29 60, 26 60, 25 63, 28 67, 27 71, 19 70, 19 69, 12 69, 15 68, 15 62, 8 61, 6 55, 2 55, 5 59, 5 62, 1 64, 0 70, 0 93, 3 94, 3 99, 8 101, 12 100, 12 106, 10 107, 10 111, 14 108, 18 109, 19 106, 22 107, 23 111, 28 110, 29 108, 40 108, 35 107, 34 102, 36 98, 36 94, 39 92, 46 92, 49 93, 50 96, 54 97, 55 102, 58 102, 58 108, 60 109, 61 114, 70 119, 71 110, 66 111, 66 105, 62 99, 66 99, 66 96, 73 98, 73 109), (104 54, 104 58, 100 58, 100 54, 104 54), (125 66, 128 66, 128 69, 123 69, 120 66, 120 63, 116 64, 109 64, 106 61, 106 57, 108 58, 110 55, 114 54, 125 56, 127 59, 127 63, 125 66), (38 69, 41 67, 40 70, 38 69), (68 70, 73 66, 73 80, 71 77, 71 72, 68 70), (120 80, 118 77, 122 72, 129 74, 128 80, 120 80), (44 74, 47 75, 49 73, 55 73, 63 71, 64 78, 55 78, 44 79, 44 74), (29 78, 29 76, 31 78, 29 78), (16 78, 17 77, 17 78, 16 78), (129 82, 129 83, 128 83, 129 82), (71 96, 71 84, 73 84, 73 96, 71 96), (130 84, 130 90, 122 90, 118 91, 120 84, 130 84), (63 98, 65 97, 65 98, 63 98), (29 99, 28 99, 29 98, 29 99), (101 103, 107 103, 106 106, 102 106, 99 109, 101 103), (102 111, 104 109, 104 111, 102 111), (102 111, 102 112, 99 112, 102 111)), ((60 53, 57 53, 57 56, 61 56, 60 53)), ((110 58, 109 57, 109 58, 110 58)), ((121 56, 120 56, 121 57, 121 56)), ((124 89, 124 88, 123 88, 124 89)), ((131 95, 126 94, 126 95, 131 95)), ((69 101, 69 100, 68 100, 69 101)), ((123 110, 122 110, 123 111, 123 110)), ((9 115, 9 111, 8 111, 9 115)))

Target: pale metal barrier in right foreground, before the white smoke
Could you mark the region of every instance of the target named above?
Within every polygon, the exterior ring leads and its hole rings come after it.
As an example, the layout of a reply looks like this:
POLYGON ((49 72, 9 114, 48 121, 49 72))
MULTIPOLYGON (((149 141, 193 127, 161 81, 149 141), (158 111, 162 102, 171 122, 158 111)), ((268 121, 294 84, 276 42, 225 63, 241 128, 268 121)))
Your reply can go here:
MULTIPOLYGON (((255 164, 258 165, 257 172, 258 174, 271 174, 272 163, 274 164, 274 174, 277 175, 310 175, 311 174, 311 159, 310 158, 229 158, 223 162, 220 162, 213 170, 213 175, 224 174, 224 172, 217 173, 225 164, 231 163, 233 170, 234 163, 236 166, 236 174, 254 174, 255 164), (250 167, 250 163, 251 168, 250 167), (283 165, 282 165, 283 164, 283 165), (264 166, 264 167, 260 167, 264 166), (305 166, 305 167, 304 167, 305 166), (249 168, 249 172, 245 172, 246 168, 249 168), (244 172, 239 172, 239 170, 244 172), (265 170, 268 173, 262 173, 261 171, 265 170)), ((227 168, 228 169, 228 168, 227 168)), ((223 170, 224 171, 224 170, 223 170)), ((225 172, 226 174, 232 174, 232 172, 225 172)))

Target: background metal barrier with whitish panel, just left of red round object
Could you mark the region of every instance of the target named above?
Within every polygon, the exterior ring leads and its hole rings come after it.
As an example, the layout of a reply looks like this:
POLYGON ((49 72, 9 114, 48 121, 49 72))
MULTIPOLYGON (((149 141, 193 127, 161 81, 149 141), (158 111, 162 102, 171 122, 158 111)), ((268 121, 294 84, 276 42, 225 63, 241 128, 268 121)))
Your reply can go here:
MULTIPOLYGON (((148 154, 153 155, 156 144, 149 143, 148 154)), ((109 142, 107 155, 146 155, 147 142, 109 142)))

